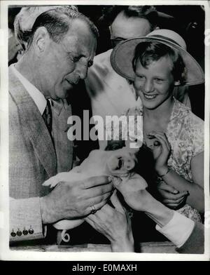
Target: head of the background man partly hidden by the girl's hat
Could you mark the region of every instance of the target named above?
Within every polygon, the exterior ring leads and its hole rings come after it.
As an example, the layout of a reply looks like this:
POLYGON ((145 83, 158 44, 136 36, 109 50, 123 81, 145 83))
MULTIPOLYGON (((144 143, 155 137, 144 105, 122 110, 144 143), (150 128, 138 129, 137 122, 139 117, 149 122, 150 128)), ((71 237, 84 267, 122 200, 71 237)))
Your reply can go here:
POLYGON ((157 28, 158 11, 153 6, 111 6, 101 20, 109 25, 114 47, 120 41, 146 36, 157 28))

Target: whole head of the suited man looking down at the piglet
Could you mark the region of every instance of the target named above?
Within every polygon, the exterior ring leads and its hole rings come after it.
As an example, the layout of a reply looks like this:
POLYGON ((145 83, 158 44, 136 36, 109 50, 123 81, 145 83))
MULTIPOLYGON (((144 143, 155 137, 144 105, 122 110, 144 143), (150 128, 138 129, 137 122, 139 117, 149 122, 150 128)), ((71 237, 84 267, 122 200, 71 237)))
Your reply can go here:
POLYGON ((22 73, 45 98, 66 98, 69 90, 85 79, 97 37, 94 24, 72 8, 45 11, 36 18, 18 62, 22 73))

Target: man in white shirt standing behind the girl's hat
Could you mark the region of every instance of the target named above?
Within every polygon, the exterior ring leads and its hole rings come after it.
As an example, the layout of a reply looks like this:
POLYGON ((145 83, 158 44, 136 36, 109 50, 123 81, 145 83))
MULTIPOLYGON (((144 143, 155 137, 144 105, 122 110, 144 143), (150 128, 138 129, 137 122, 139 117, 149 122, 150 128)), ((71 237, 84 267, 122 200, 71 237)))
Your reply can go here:
MULTIPOLYGON (((146 36, 153 29, 159 28, 158 18, 163 16, 166 17, 153 6, 113 6, 104 14, 104 20, 109 23, 111 42, 115 47, 120 41, 146 36)), ((167 15, 167 18, 170 16, 167 15)), ((130 107, 141 107, 141 100, 137 98, 132 81, 118 75, 111 67, 111 52, 112 49, 94 58, 94 65, 85 79, 92 113, 103 118, 107 115, 120 116, 130 107)), ((174 95, 190 107, 186 88, 175 88, 174 95)), ((99 145, 104 149, 106 140, 100 140, 99 145)))

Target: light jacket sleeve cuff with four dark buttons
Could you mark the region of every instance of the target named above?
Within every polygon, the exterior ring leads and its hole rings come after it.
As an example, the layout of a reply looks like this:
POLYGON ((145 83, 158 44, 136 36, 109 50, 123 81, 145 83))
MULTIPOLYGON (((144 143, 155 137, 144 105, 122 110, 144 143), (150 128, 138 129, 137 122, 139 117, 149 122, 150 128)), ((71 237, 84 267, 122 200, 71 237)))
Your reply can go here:
POLYGON ((39 197, 10 199, 10 241, 43 239, 45 230, 39 197))

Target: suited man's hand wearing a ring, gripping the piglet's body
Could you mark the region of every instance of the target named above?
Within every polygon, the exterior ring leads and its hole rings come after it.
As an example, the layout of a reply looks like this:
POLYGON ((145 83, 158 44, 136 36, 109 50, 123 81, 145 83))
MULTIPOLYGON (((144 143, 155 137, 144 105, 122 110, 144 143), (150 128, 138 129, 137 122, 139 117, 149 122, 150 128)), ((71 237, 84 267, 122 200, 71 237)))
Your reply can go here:
POLYGON ((89 215, 92 206, 96 210, 104 206, 112 189, 107 176, 90 177, 85 182, 60 182, 50 194, 41 198, 43 224, 89 215))

